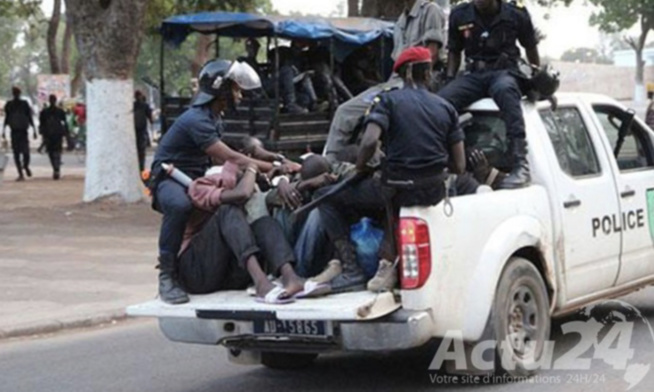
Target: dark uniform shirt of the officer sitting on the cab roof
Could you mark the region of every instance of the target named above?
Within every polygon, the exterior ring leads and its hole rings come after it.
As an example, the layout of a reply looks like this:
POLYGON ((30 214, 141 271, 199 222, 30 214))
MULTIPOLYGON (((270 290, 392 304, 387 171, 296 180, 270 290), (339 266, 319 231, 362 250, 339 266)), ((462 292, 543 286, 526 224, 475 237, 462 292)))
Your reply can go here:
POLYGON ((509 60, 520 58, 516 41, 526 49, 538 44, 527 9, 520 3, 500 2, 500 12, 482 18, 472 2, 463 3, 450 14, 448 49, 473 61, 494 63, 505 53, 509 60))

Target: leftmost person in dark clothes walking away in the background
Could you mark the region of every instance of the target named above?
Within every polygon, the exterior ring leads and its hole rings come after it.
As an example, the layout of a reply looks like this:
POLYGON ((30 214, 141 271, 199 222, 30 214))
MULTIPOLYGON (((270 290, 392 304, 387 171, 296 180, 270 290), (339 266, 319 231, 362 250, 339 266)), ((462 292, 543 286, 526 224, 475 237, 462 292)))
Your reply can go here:
POLYGON ((23 169, 27 177, 32 177, 30 170, 30 142, 27 131, 30 127, 34 130, 34 139, 37 138, 34 120, 32 119, 32 108, 29 103, 21 99, 20 88, 12 87, 11 94, 14 99, 5 105, 5 122, 2 126, 2 139, 6 140, 5 128, 11 129, 11 149, 14 153, 14 162, 18 170, 16 181, 24 181, 23 169), (22 156, 22 160, 21 160, 22 156))

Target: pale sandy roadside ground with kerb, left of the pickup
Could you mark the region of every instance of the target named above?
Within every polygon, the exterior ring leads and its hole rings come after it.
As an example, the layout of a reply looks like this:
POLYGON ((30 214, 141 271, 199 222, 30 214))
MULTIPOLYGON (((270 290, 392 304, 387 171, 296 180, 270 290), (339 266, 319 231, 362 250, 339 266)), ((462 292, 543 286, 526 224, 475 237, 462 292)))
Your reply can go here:
POLYGON ((81 203, 83 168, 0 185, 0 338, 120 316, 156 293, 160 217, 147 203, 81 203), (36 327, 36 328, 35 328, 36 327))

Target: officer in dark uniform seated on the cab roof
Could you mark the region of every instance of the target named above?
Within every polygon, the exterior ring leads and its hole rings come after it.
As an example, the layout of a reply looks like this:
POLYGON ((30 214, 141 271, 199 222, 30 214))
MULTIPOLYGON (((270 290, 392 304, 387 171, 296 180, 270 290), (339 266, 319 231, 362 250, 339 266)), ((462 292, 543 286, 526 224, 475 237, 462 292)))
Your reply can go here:
POLYGON ((490 96, 500 108, 507 128, 513 168, 501 184, 514 189, 531 180, 527 163, 525 123, 520 101, 522 92, 514 73, 518 68, 520 49, 527 60, 540 65, 538 38, 529 13, 520 2, 504 0, 471 0, 452 10, 449 24, 448 78, 454 78, 465 52, 464 76, 454 79, 438 94, 457 110, 478 99, 490 96))

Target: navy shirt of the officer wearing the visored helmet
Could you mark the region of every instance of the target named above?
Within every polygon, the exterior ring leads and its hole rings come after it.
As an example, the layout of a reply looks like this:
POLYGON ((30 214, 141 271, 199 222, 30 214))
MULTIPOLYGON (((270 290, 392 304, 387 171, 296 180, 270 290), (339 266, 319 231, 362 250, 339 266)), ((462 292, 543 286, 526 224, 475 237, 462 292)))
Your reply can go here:
POLYGON ((159 142, 153 172, 158 172, 162 163, 171 163, 193 178, 202 176, 210 165, 205 150, 219 141, 222 133, 222 119, 209 107, 189 108, 159 142))

